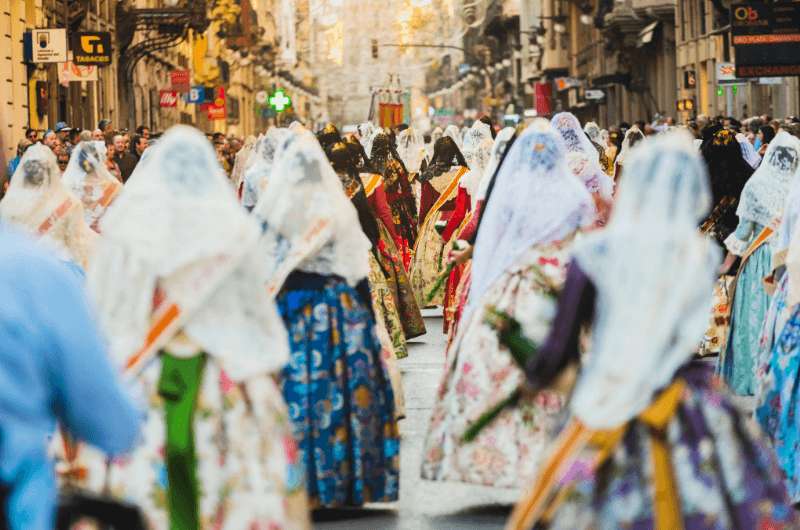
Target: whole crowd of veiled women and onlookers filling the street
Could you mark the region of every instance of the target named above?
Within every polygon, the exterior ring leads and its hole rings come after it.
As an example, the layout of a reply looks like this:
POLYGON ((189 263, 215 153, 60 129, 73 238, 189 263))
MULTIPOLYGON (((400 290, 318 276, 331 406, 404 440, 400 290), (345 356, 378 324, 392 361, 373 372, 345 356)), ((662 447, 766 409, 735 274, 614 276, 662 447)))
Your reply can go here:
POLYGON ((433 308, 422 478, 519 490, 511 529, 798 528, 797 122, 29 131, 0 202, 4 522, 395 501, 433 308))

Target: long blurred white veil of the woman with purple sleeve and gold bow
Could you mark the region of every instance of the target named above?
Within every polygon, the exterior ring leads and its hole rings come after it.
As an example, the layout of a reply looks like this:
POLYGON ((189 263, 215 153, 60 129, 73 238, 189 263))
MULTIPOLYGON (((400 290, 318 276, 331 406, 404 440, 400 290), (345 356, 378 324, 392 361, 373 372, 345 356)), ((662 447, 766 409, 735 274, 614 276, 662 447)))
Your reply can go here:
POLYGON ((625 172, 608 226, 575 248, 597 288, 597 311, 571 408, 595 429, 635 417, 691 357, 720 258, 697 231, 711 190, 688 134, 643 141, 625 172))

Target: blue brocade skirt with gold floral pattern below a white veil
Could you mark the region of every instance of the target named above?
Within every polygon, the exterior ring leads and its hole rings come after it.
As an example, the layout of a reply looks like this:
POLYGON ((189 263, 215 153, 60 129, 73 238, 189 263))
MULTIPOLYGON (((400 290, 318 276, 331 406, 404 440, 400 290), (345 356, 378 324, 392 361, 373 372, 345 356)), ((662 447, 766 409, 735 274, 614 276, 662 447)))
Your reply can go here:
POLYGON ((400 438, 370 311, 344 280, 298 272, 278 309, 291 349, 281 389, 312 506, 397 500, 400 438))

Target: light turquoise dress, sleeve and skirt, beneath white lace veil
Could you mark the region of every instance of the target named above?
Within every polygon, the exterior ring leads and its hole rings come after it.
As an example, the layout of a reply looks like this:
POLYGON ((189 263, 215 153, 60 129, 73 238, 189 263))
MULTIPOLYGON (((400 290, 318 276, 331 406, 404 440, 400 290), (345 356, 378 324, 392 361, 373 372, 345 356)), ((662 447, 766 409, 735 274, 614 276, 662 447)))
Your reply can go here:
MULTIPOLYGON (((741 221, 736 232, 725 240, 725 245, 733 254, 744 256, 763 228, 757 223, 741 221)), ((717 367, 734 394, 755 394, 756 357, 770 303, 763 280, 771 272, 772 250, 764 243, 744 260, 736 279, 728 342, 717 367)))

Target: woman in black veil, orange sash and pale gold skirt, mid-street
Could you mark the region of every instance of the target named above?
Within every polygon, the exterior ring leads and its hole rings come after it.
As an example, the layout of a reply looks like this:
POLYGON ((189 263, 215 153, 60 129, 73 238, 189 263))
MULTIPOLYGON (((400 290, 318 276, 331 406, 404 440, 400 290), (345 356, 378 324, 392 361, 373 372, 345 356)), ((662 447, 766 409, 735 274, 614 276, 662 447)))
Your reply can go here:
POLYGON ((411 286, 420 307, 441 305, 444 300, 442 290, 431 293, 447 266, 440 230, 455 208, 459 183, 468 170, 455 141, 444 136, 436 142, 433 159, 420 174, 420 225, 411 263, 411 286))

